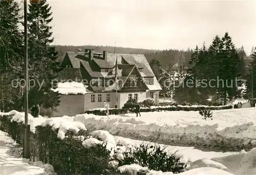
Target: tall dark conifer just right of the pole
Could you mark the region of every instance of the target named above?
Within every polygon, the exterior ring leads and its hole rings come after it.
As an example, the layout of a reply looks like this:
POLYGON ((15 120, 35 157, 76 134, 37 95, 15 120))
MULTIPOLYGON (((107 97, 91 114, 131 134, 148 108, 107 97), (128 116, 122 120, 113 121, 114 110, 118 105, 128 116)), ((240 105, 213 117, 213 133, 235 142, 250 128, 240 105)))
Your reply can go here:
POLYGON ((51 15, 51 7, 46 0, 30 0, 28 13, 29 76, 30 79, 40 83, 44 82, 41 89, 36 83, 36 86, 29 91, 30 108, 37 104, 51 108, 58 106, 57 102, 59 102, 59 94, 51 91, 51 82, 60 70, 56 62, 58 54, 50 45, 54 41, 52 27, 49 26, 53 19, 51 15), (53 93, 55 95, 49 99, 49 94, 53 93), (54 106, 47 105, 47 101, 51 101, 54 106))

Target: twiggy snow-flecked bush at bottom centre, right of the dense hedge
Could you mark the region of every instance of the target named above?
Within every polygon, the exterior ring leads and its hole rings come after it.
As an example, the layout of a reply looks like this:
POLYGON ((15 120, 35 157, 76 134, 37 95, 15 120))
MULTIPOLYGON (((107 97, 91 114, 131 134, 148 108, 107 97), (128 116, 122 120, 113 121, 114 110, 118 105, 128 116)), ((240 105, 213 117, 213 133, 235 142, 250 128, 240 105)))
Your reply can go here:
POLYGON ((165 148, 158 144, 141 143, 128 149, 128 151, 123 153, 123 159, 117 161, 119 166, 137 164, 150 170, 179 173, 183 172, 186 168, 185 163, 181 159, 182 157, 176 156, 175 153, 168 154, 165 148))

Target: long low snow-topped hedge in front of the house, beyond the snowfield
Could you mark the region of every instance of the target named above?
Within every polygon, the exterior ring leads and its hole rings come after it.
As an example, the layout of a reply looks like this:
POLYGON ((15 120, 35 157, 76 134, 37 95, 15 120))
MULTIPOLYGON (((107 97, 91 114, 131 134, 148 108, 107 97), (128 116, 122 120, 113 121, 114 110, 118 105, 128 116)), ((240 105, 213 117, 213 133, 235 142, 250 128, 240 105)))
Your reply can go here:
MULTIPOLYGON (((140 108, 140 112, 155 112, 155 111, 200 111, 203 109, 209 110, 224 110, 224 109, 232 109, 231 105, 229 106, 151 106, 150 108, 142 107, 140 108)), ((126 114, 129 112, 135 112, 134 109, 109 109, 109 115, 117 115, 117 114, 126 114)), ((105 108, 98 108, 93 110, 86 111, 87 114, 94 114, 94 115, 106 115, 105 108)))

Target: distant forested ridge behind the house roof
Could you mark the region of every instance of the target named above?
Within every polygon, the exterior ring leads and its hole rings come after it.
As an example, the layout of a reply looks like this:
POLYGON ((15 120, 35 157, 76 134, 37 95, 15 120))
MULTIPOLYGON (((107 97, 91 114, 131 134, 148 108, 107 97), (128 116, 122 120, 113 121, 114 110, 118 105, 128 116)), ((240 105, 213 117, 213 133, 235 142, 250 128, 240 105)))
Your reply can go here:
POLYGON ((188 65, 191 55, 191 50, 178 51, 177 49, 169 49, 164 51, 153 50, 153 49, 142 49, 142 48, 128 48, 128 47, 116 47, 114 46, 95 46, 95 45, 55 45, 56 51, 59 54, 59 60, 63 58, 66 52, 75 52, 78 48, 84 51, 85 48, 94 48, 95 52, 108 51, 109 53, 119 54, 144 54, 147 61, 150 62, 152 59, 159 60, 163 68, 167 68, 168 64, 174 65, 178 62, 182 62, 185 66, 188 65))

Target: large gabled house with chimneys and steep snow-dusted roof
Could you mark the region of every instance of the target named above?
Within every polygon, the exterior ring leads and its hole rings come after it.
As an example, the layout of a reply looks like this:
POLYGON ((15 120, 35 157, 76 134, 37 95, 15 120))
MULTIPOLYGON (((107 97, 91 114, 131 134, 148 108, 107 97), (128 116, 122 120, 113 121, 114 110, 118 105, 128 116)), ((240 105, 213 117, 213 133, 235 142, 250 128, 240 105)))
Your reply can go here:
MULTIPOLYGON (((60 66, 63 70, 58 74, 58 81, 71 80, 87 86, 85 111, 102 108, 103 101, 115 108, 116 90, 117 108, 122 108, 129 98, 159 101, 161 87, 144 55, 94 53, 92 49, 86 49, 85 52, 67 52, 60 66)), ((72 103, 69 105, 73 106, 72 103)))

